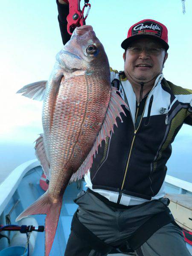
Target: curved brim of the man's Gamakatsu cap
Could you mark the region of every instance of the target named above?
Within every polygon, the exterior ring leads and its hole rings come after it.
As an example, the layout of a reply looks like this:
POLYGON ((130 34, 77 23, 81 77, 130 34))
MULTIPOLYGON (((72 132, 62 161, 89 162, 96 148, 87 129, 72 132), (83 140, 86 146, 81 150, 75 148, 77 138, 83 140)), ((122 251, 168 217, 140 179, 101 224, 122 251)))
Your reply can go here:
POLYGON ((153 39, 159 41, 160 43, 162 43, 163 48, 166 49, 166 51, 169 49, 169 44, 167 44, 163 39, 161 39, 161 38, 159 38, 155 35, 134 35, 134 36, 131 36, 129 38, 126 38, 124 41, 122 41, 121 47, 126 50, 133 41, 135 41, 139 38, 146 38, 146 37, 147 38, 153 38, 153 39))

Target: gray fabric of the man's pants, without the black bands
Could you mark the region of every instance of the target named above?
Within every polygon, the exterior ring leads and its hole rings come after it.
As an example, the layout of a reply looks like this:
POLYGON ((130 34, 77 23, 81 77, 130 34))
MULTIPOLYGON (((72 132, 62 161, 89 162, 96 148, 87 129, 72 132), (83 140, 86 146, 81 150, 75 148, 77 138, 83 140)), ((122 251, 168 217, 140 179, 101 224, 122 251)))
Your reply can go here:
MULTIPOLYGON (((129 209, 108 206, 90 192, 82 191, 75 200, 77 216, 92 233, 108 244, 121 244, 152 215, 164 211, 166 198, 150 201, 129 209)), ((170 223, 157 230, 138 250, 138 256, 190 256, 181 230, 170 223)), ((89 255, 101 255, 91 252, 89 255)))

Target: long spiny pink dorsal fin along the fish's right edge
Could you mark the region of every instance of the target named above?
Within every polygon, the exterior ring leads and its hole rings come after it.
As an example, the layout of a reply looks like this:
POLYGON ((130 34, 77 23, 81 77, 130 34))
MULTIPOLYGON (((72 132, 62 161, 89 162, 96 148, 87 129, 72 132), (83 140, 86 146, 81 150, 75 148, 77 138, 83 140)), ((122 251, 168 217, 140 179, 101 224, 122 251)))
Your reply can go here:
POLYGON ((98 153, 98 147, 99 145, 101 146, 102 140, 106 141, 106 137, 110 137, 110 132, 113 131, 113 125, 117 126, 116 117, 119 116, 119 118, 122 121, 120 113, 122 112, 125 115, 125 112, 123 111, 121 105, 125 105, 125 107, 128 106, 116 92, 119 91, 115 87, 111 87, 111 99, 108 105, 108 110, 106 112, 102 127, 86 159, 81 164, 78 171, 72 175, 70 183, 76 180, 80 180, 91 168, 93 163, 93 155, 95 156, 95 153, 98 153))

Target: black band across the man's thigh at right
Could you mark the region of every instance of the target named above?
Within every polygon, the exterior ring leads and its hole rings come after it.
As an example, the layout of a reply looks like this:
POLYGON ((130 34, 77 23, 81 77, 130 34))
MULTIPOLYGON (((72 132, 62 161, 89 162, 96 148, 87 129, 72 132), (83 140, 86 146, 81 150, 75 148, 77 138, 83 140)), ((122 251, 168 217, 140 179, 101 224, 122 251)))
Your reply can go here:
POLYGON ((146 221, 142 226, 140 226, 134 234, 128 239, 130 247, 133 250, 137 250, 142 244, 145 243, 157 230, 161 227, 169 224, 175 224, 175 220, 173 218, 172 213, 169 208, 165 211, 157 213, 153 217, 151 217, 148 221, 146 221))

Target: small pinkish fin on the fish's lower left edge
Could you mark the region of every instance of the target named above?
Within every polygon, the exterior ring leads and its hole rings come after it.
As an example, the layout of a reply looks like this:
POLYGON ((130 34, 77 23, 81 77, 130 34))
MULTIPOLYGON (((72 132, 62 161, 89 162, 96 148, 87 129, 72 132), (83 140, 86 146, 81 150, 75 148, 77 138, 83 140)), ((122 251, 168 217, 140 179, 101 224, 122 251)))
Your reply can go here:
POLYGON ((35 154, 36 154, 38 160, 41 163, 41 166, 44 170, 44 174, 45 174, 47 180, 49 180, 50 164, 49 164, 49 161, 47 160, 47 156, 46 156, 45 149, 44 149, 43 134, 40 134, 40 136, 38 137, 37 140, 35 140, 35 142, 36 142, 36 144, 35 144, 35 154))

